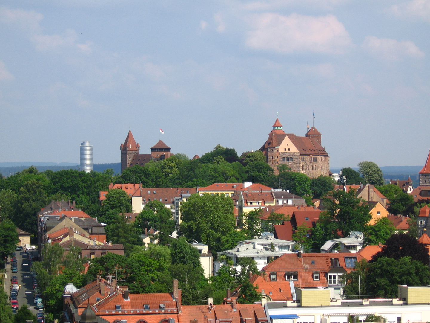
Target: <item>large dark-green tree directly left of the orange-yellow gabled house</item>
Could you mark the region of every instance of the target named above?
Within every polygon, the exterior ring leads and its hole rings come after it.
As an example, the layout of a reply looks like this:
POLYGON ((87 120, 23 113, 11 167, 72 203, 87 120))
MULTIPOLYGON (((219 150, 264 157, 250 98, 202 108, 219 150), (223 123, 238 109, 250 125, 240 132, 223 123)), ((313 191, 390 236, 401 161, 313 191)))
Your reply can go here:
POLYGON ((365 225, 372 219, 369 207, 364 200, 355 196, 355 190, 350 189, 333 191, 332 198, 324 199, 326 214, 335 221, 336 229, 343 236, 348 236, 350 231, 363 232, 365 225))

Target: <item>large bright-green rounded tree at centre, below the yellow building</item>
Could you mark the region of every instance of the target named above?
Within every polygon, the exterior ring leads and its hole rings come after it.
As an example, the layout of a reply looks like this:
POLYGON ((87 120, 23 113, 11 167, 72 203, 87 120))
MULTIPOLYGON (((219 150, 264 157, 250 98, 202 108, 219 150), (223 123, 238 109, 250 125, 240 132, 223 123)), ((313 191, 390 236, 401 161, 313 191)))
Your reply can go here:
POLYGON ((224 195, 193 194, 182 203, 181 212, 181 232, 187 239, 209 245, 213 251, 222 251, 221 238, 236 225, 232 199, 224 195))

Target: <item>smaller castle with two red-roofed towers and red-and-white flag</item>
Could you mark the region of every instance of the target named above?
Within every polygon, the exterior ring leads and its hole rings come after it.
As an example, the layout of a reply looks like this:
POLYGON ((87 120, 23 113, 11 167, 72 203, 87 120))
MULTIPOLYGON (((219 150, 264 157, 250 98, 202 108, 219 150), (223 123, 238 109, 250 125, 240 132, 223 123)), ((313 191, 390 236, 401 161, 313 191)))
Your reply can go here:
POLYGON ((120 146, 121 149, 121 173, 128 167, 134 165, 143 166, 150 160, 155 162, 173 156, 170 147, 159 140, 155 146, 151 147, 151 154, 139 154, 140 145, 136 143, 131 130, 127 134, 126 140, 120 146))

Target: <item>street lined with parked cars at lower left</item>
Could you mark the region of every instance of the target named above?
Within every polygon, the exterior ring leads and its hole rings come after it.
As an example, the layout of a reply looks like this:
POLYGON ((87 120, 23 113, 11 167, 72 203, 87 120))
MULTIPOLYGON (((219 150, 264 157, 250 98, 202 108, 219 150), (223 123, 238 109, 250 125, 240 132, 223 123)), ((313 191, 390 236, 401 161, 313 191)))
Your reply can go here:
MULTIPOLYGON (((6 263, 6 281, 5 281, 5 292, 10 295, 10 281, 12 276, 18 277, 18 285, 21 285, 21 289, 18 292, 18 305, 19 308, 23 304, 27 304, 27 307, 33 314, 37 314, 37 309, 34 306, 34 291, 33 291, 33 280, 30 273, 30 260, 28 256, 30 252, 15 251, 16 260, 18 262, 18 273, 12 273, 10 265, 10 257, 6 263)), ((34 255, 37 255, 37 251, 32 251, 34 255)))

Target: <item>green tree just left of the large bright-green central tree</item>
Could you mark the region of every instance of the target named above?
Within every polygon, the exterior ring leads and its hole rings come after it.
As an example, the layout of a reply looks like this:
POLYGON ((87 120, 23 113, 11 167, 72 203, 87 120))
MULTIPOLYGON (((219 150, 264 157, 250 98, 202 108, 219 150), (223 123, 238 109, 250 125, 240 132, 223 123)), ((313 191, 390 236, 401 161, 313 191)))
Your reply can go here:
POLYGON ((144 229, 157 229, 159 243, 165 245, 170 241, 169 236, 175 230, 175 220, 172 219, 172 211, 159 201, 150 201, 136 217, 136 227, 144 229))

